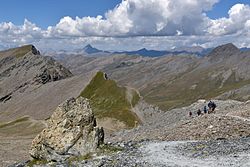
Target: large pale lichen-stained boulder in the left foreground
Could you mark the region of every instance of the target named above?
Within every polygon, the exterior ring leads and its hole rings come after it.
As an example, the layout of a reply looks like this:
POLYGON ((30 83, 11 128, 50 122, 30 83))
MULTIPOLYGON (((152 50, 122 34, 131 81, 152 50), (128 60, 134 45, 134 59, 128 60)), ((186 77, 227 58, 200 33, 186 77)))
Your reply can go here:
POLYGON ((82 97, 59 105, 47 124, 32 142, 30 155, 35 159, 64 161, 70 156, 86 155, 104 140, 103 128, 96 127, 89 102, 82 97))

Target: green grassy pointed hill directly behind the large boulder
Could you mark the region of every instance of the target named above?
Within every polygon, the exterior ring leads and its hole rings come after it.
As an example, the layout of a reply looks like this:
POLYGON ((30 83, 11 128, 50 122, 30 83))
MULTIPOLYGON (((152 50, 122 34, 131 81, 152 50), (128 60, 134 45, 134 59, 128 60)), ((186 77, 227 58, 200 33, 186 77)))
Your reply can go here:
POLYGON ((99 119, 97 122, 111 118, 123 123, 125 127, 135 127, 140 120, 132 108, 138 103, 139 94, 105 77, 105 73, 98 72, 80 96, 90 99, 95 116, 99 119))

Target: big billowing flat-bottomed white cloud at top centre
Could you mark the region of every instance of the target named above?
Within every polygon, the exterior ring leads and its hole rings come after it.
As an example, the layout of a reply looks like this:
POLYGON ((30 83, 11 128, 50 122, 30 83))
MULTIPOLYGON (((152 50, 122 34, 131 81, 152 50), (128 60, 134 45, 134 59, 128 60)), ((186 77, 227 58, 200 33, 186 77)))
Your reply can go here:
POLYGON ((97 17, 64 17, 51 35, 145 36, 203 34, 208 11, 218 0, 123 0, 97 17), (204 24, 205 23, 205 24, 204 24))

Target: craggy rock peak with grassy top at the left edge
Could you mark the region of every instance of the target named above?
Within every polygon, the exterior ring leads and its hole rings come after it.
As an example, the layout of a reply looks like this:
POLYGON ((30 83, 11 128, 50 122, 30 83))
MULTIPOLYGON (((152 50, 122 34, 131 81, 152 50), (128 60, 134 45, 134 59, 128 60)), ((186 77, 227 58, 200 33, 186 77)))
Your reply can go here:
POLYGON ((59 81, 72 73, 53 58, 44 57, 34 45, 0 52, 0 103, 29 89, 59 81))

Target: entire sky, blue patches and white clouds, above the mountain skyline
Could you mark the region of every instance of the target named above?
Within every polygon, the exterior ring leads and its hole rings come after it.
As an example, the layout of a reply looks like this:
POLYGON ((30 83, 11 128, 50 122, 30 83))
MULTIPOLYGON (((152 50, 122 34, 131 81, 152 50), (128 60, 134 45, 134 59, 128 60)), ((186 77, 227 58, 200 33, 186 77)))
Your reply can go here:
POLYGON ((249 0, 3 0, 0 49, 250 47, 249 0))

